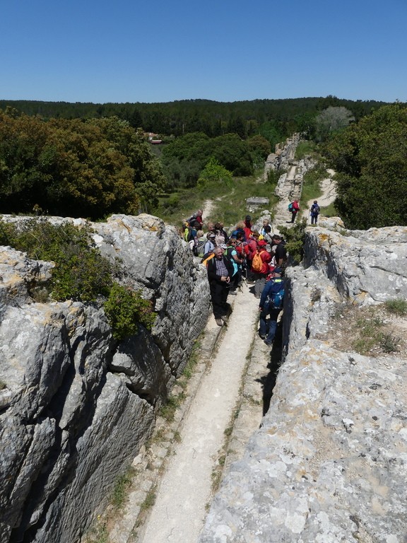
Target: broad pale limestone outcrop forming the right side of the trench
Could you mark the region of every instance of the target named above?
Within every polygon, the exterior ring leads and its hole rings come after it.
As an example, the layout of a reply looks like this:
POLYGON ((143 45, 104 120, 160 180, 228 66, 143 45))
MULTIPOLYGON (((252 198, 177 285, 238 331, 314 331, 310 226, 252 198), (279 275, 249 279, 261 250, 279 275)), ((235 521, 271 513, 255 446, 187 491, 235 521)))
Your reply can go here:
POLYGON ((288 269, 270 409, 225 475, 200 543, 407 540, 406 353, 369 358, 329 340, 343 301, 407 298, 407 228, 339 233, 331 223, 308 229, 305 266, 288 269))

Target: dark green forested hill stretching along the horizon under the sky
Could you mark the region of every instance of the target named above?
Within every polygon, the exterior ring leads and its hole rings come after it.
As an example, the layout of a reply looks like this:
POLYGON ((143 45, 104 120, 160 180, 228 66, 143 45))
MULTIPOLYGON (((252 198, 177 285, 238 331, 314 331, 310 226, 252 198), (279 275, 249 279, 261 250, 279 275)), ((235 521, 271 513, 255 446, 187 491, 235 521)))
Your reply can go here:
POLYGON ((164 135, 204 132, 219 136, 226 132, 242 137, 259 132, 259 127, 271 122, 281 134, 305 132, 315 115, 329 106, 350 110, 358 121, 372 110, 384 105, 374 100, 343 100, 326 98, 286 98, 280 100, 245 100, 215 102, 212 100, 179 100, 167 103, 68 103, 33 100, 0 100, 0 109, 13 107, 27 115, 45 118, 86 119, 116 115, 131 126, 146 132, 164 135))

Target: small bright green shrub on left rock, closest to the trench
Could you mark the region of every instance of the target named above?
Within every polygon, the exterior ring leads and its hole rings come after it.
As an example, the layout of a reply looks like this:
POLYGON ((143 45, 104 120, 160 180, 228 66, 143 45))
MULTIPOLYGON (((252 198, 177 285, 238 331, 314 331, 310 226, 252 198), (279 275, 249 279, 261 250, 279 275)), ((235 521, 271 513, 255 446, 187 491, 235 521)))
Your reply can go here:
POLYGON ((141 297, 141 291, 114 283, 105 304, 107 320, 115 339, 124 339, 136 334, 138 323, 151 329, 155 321, 150 300, 141 297))

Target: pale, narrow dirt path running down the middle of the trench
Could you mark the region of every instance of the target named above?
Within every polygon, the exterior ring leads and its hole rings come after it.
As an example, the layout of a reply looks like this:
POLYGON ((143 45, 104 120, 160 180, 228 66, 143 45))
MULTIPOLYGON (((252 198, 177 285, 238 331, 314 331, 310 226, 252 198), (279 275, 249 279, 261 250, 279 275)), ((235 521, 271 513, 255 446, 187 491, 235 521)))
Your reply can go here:
MULTIPOLYGON (((225 431, 233 418, 257 316, 258 300, 244 286, 236 296, 217 354, 182 424, 180 442, 160 481, 155 505, 138 542, 197 541, 206 506, 211 502, 213 470, 218 466, 225 431)), ((210 319, 210 324, 216 326, 213 317, 210 319)), ((267 350, 264 351, 266 356, 267 350)), ((259 405, 256 411, 258 416, 252 421, 251 431, 261 420, 259 405)))

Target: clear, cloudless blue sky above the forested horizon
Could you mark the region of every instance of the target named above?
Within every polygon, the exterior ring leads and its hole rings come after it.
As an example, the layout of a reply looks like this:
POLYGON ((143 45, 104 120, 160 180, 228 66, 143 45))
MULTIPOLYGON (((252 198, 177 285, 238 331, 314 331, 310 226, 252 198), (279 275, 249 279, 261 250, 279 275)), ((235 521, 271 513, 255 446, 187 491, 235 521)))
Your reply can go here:
POLYGON ((406 0, 2 0, 0 99, 407 101, 406 0))

